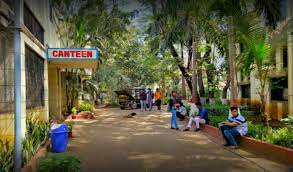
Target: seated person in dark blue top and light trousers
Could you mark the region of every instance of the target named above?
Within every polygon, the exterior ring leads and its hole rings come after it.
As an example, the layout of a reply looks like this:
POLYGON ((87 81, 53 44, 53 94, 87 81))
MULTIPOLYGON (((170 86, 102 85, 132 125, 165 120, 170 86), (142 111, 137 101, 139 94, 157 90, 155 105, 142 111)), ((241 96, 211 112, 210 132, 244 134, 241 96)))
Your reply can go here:
POLYGON ((196 129, 195 131, 200 131, 199 124, 206 124, 208 122, 208 112, 202 107, 200 102, 196 103, 196 107, 198 108, 198 115, 192 114, 189 119, 189 123, 187 128, 184 131, 189 131, 193 122, 195 122, 196 129))

